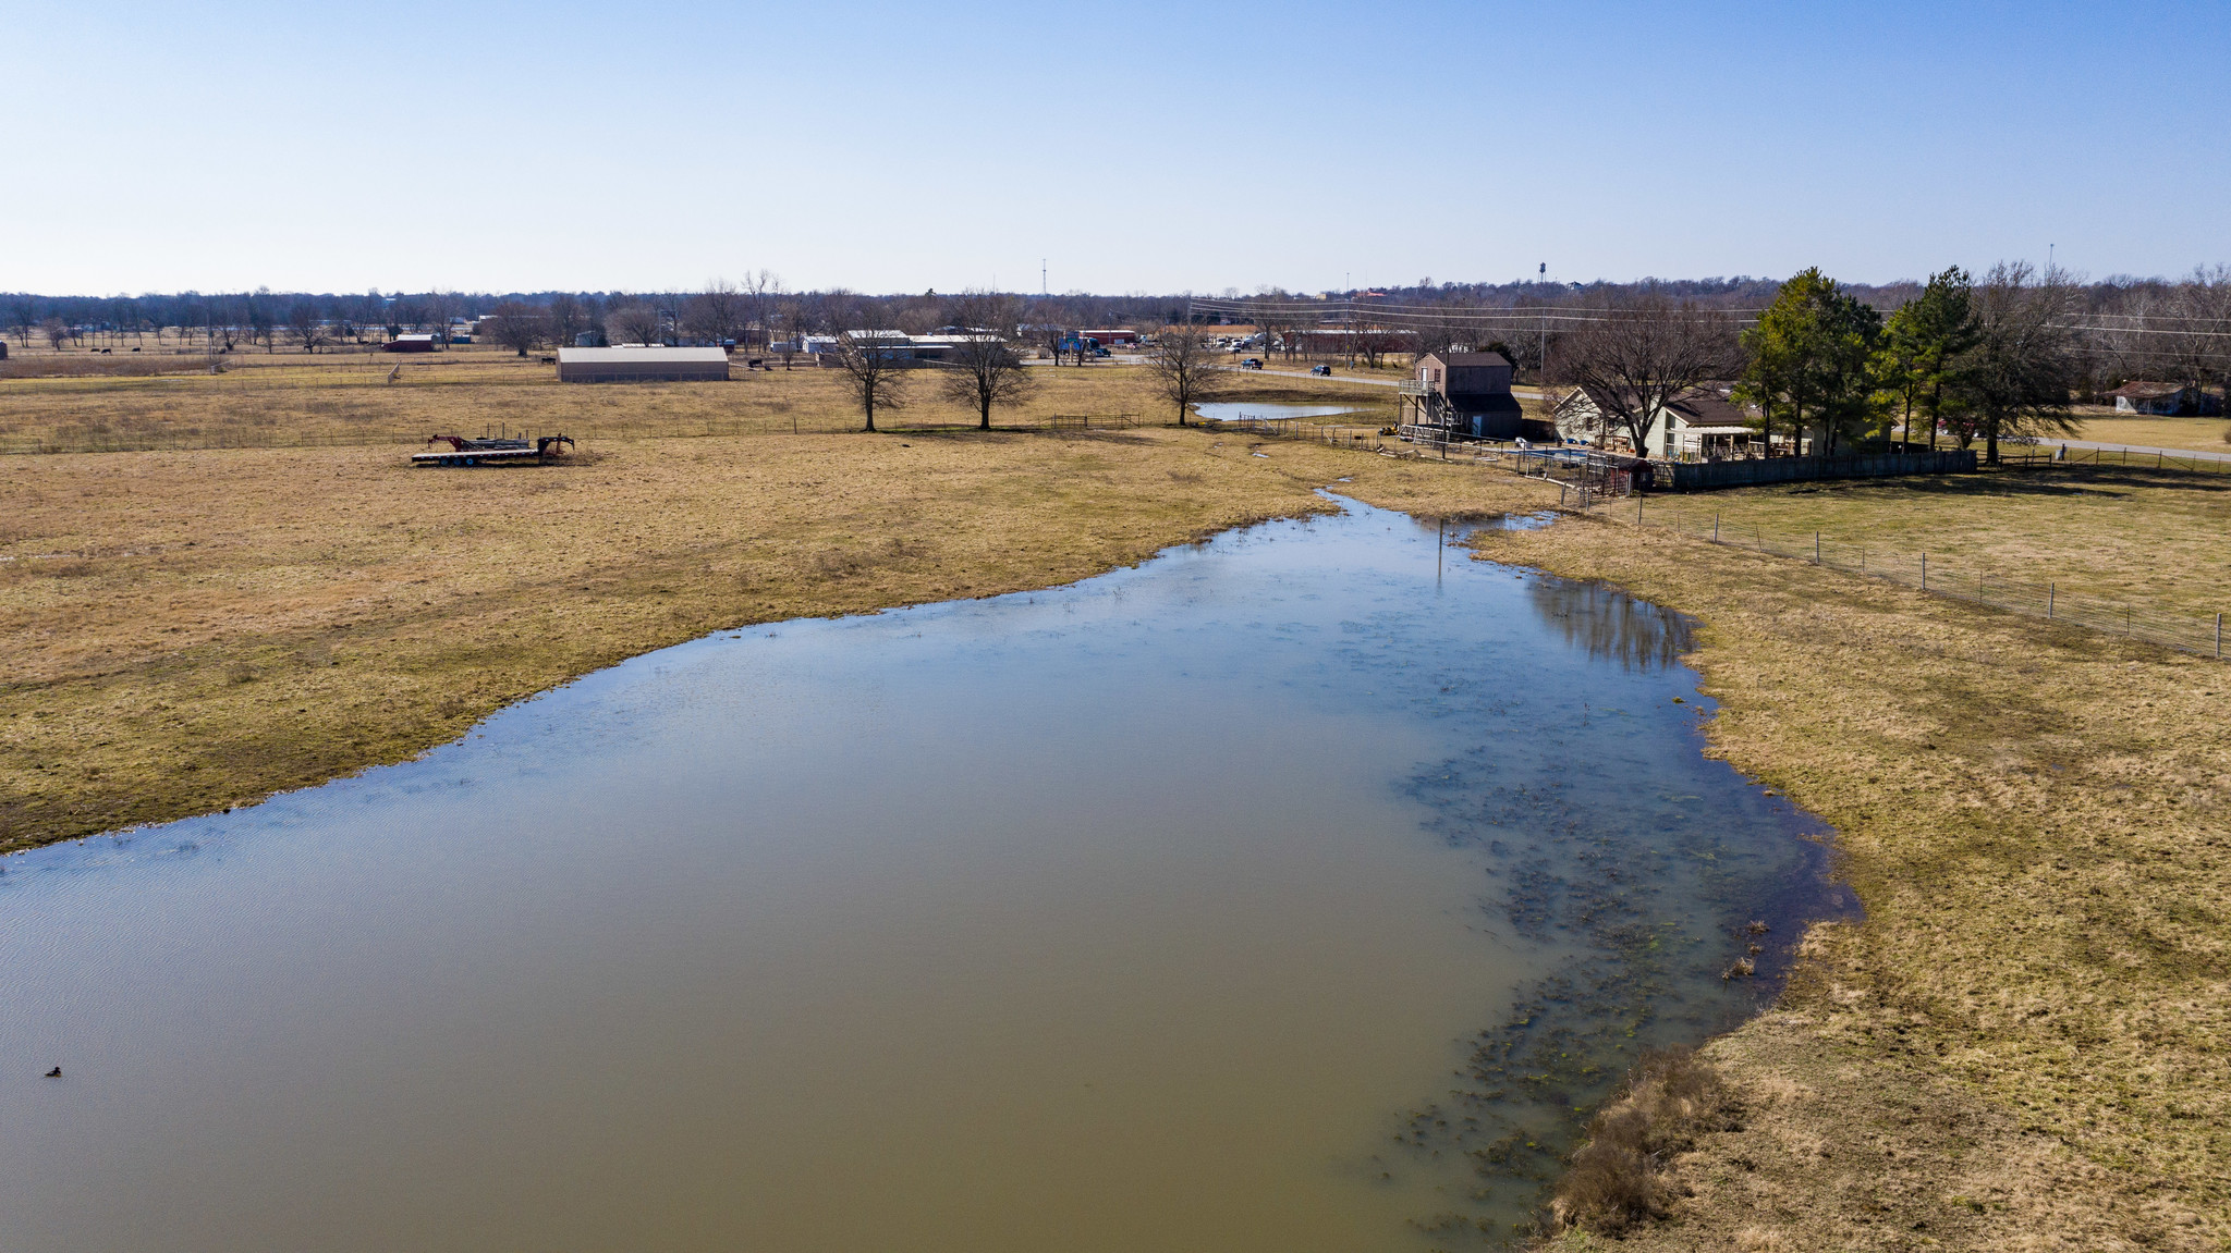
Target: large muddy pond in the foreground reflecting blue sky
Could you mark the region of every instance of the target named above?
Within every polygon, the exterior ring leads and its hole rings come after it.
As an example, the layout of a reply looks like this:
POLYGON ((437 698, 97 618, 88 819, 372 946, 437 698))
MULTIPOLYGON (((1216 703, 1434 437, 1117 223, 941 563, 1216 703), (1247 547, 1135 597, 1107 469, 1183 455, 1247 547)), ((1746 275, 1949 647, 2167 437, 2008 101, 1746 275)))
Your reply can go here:
POLYGON ((1635 1048, 1754 1006, 1742 921, 1841 907, 1680 647, 1350 506, 7 858, 4 1246, 1506 1233, 1635 1048))

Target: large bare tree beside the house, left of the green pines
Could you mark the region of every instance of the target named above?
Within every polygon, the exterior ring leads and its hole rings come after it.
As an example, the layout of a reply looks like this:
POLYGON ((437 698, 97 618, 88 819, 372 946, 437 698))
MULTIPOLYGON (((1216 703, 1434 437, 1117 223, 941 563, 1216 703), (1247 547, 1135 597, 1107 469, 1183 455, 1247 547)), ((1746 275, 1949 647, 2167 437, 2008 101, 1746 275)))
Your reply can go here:
POLYGON ((1649 453, 1651 428, 1673 401, 1738 366, 1727 314, 1651 290, 1580 323, 1557 354, 1559 381, 1582 388, 1606 424, 1624 428, 1635 455, 1649 453))

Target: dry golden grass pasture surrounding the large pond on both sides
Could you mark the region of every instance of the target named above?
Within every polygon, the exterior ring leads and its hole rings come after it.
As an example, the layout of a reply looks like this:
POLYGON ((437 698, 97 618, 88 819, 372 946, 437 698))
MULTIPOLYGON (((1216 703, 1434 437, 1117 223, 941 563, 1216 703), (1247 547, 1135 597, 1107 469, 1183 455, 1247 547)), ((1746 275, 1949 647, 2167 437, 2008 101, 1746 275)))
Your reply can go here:
MULTIPOLYGON (((408 758, 721 626, 1069 582, 1325 508, 1334 479, 1421 515, 1555 499, 1475 466, 1156 426, 1142 377, 1111 366, 1049 370, 1013 421, 1147 426, 979 435, 924 397, 892 415, 915 430, 877 437, 852 433, 834 372, 562 388, 493 352, 388 383, 393 366, 0 379, 0 444, 158 448, 0 457, 0 847, 408 758), (580 455, 404 464, 495 421, 580 455)), ((2227 490, 2041 473, 1680 504, 2200 606, 2224 586, 2227 490)), ((1713 751, 1836 825, 1867 910, 1809 939, 1776 1012, 1707 1048, 1742 1130, 1693 1137, 1669 1217, 1631 1246, 2231 1242, 2231 671, 1609 517, 1479 548, 1698 615, 1713 751)))

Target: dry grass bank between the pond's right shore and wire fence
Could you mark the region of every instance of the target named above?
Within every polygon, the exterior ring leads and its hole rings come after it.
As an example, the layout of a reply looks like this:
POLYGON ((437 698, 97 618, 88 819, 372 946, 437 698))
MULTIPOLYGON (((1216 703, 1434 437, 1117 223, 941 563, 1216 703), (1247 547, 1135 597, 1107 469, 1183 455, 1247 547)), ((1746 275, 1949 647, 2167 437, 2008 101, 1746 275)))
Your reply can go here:
POLYGON ((2231 669, 1644 535, 1481 555, 1696 613, 1716 751, 1834 823, 1867 916, 1704 1050, 1740 1130, 1687 1137, 1669 1222, 1622 1246, 2224 1249, 2231 669))

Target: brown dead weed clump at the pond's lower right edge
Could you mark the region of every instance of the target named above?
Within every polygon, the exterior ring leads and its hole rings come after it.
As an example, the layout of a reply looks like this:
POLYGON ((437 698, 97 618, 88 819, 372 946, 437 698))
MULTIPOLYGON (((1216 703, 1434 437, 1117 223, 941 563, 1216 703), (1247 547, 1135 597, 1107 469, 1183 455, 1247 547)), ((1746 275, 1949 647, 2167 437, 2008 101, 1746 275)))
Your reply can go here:
POLYGON ((1667 1166, 1704 1130, 1731 1130, 1736 1101, 1693 1050, 1646 1052, 1573 1155, 1548 1206, 1555 1233, 1620 1235, 1671 1199, 1667 1166))

